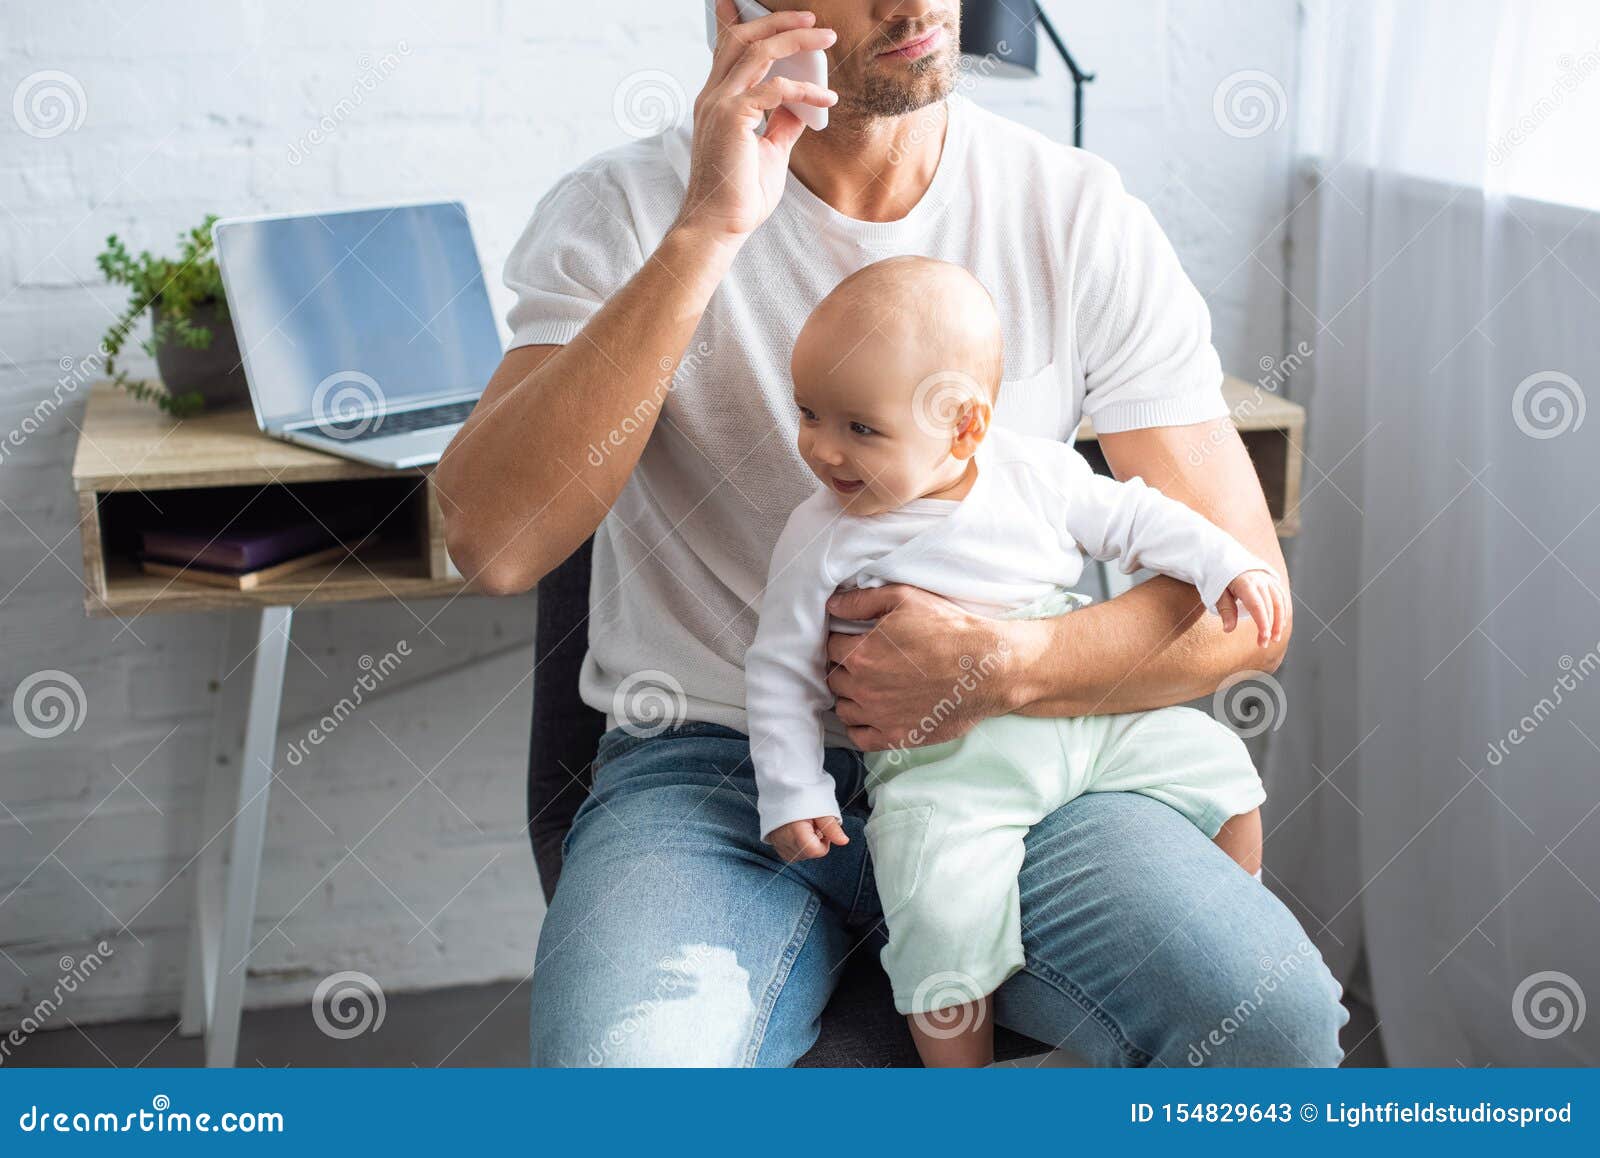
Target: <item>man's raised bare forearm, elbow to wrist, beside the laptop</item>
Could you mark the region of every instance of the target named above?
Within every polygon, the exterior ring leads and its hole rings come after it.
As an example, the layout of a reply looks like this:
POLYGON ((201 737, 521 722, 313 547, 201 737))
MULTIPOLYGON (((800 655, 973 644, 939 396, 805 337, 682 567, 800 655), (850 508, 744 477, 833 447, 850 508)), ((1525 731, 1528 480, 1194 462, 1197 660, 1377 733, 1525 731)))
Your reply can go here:
POLYGON ((446 541, 483 590, 526 590, 587 539, 638 462, 733 261, 675 229, 531 371, 510 350, 435 469, 446 541))

